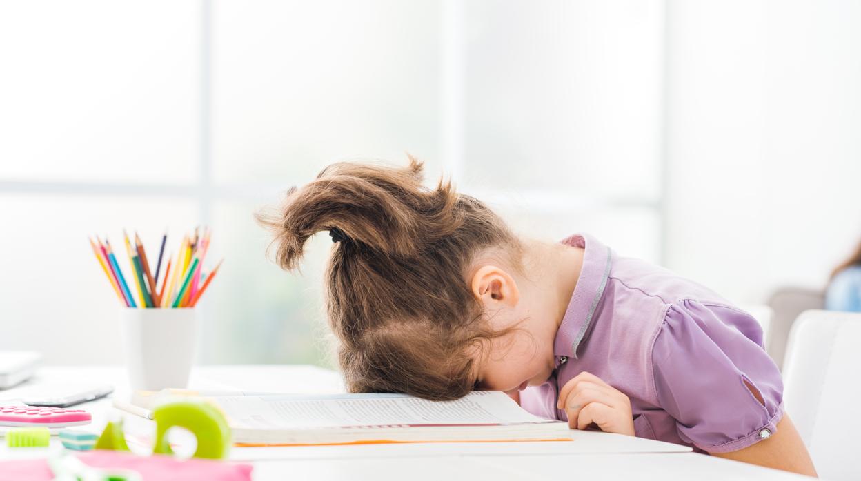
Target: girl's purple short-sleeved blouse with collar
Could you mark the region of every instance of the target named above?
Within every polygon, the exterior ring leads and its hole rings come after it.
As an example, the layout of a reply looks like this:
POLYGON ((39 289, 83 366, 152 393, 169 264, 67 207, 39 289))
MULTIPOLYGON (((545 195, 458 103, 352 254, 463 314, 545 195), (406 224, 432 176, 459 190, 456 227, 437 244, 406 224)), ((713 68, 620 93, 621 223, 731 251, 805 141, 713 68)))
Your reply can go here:
POLYGON ((725 453, 777 430, 783 382, 756 319, 588 235, 562 243, 585 248, 583 268, 556 333, 556 369, 520 393, 524 409, 567 421, 557 393, 587 371, 630 398, 638 437, 725 453))

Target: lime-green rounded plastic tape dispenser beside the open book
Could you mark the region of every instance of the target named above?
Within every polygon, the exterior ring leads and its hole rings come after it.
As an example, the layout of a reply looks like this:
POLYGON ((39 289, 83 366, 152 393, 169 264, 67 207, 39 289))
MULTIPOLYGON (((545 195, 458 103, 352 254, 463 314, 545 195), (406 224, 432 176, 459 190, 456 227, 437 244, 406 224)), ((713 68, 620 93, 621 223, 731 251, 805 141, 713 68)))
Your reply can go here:
POLYGON ((212 404, 177 401, 162 404, 152 411, 156 421, 156 444, 153 453, 172 454, 167 431, 174 426, 188 429, 197 438, 195 458, 224 459, 230 450, 231 433, 227 420, 212 404))

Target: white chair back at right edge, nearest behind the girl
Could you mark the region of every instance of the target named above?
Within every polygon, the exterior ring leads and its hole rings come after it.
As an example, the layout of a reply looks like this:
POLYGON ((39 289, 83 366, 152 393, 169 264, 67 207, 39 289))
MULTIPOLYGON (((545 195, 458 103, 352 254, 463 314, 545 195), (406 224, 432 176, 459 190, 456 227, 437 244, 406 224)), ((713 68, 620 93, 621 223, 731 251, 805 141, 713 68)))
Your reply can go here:
POLYGON ((784 359, 784 406, 821 478, 861 479, 861 313, 804 311, 784 359))

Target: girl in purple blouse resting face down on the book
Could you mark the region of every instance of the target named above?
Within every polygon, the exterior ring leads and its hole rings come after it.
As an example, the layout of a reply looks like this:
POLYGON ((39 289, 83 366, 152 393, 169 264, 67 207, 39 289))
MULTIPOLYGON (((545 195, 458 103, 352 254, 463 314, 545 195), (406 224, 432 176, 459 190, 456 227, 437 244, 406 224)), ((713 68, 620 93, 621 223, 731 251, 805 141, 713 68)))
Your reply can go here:
POLYGON ((329 231, 326 304, 350 392, 499 390, 572 428, 815 475, 746 312, 585 234, 516 237, 448 182, 335 163, 258 220, 282 268, 329 231))

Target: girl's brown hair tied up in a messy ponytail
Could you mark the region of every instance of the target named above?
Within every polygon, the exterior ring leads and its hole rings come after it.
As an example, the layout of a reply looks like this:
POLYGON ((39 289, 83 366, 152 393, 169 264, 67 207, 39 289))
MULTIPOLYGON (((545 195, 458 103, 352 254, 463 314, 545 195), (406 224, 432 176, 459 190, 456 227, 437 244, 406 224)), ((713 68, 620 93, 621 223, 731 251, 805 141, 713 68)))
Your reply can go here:
POLYGON ((257 213, 274 233, 276 262, 298 267, 307 239, 330 231, 326 310, 338 339, 338 364, 349 392, 403 392, 432 400, 475 388, 471 346, 492 332, 472 293, 474 254, 504 247, 522 253, 505 223, 450 182, 422 186, 422 163, 406 168, 334 163, 281 206, 257 213))

